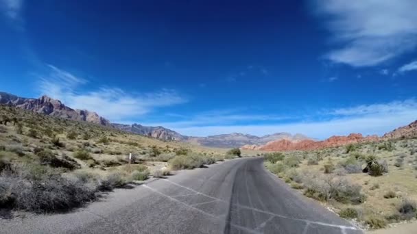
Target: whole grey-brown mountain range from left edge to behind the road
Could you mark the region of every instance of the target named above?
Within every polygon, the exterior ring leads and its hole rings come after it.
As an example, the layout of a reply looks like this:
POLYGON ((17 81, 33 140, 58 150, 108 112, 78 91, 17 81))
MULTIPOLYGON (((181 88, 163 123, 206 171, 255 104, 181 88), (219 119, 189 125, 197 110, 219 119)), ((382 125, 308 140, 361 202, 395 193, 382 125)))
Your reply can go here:
POLYGON ((267 144, 275 140, 287 140, 289 142, 299 142, 302 140, 312 140, 305 135, 290 133, 275 133, 272 135, 264 135, 258 137, 256 135, 248 135, 242 133, 230 133, 222 135, 210 135, 207 137, 192 137, 187 135, 181 135, 176 131, 167 129, 165 127, 150 127, 139 124, 122 125, 118 123, 111 123, 106 118, 99 116, 95 112, 90 112, 86 109, 72 109, 64 105, 61 101, 51 99, 49 96, 41 96, 38 99, 29 99, 9 94, 7 92, 0 92, 0 104, 19 107, 21 109, 27 109, 39 114, 45 114, 47 116, 55 116, 60 118, 68 118, 71 120, 80 120, 86 122, 92 122, 97 125, 104 125, 107 127, 114 127, 130 133, 139 135, 146 135, 152 138, 158 138, 160 140, 174 140, 180 142, 189 142, 191 144, 197 144, 200 146, 211 146, 219 148, 233 148, 241 147, 247 144, 260 145, 267 144))

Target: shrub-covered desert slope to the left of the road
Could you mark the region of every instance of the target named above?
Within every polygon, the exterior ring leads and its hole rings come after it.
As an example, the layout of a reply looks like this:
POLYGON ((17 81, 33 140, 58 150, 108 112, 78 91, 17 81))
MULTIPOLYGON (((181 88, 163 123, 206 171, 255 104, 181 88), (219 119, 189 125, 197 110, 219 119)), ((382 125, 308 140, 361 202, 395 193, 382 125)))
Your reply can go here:
POLYGON ((241 156, 237 151, 156 140, 0 105, 0 208, 68 211, 152 176, 241 156))

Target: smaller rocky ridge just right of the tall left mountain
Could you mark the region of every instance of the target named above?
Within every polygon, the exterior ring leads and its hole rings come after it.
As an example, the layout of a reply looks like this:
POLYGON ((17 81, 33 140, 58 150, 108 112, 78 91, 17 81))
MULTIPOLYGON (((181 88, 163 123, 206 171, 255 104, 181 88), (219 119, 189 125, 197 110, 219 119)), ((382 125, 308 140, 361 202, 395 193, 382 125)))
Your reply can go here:
POLYGON ((165 127, 149 127, 143 125, 121 125, 121 124, 112 124, 113 127, 121 129, 123 131, 128 131, 130 133, 135 133, 139 135, 147 135, 152 138, 158 138, 161 140, 176 140, 176 141, 186 141, 189 137, 181 135, 176 131, 171 129, 165 129, 165 127))

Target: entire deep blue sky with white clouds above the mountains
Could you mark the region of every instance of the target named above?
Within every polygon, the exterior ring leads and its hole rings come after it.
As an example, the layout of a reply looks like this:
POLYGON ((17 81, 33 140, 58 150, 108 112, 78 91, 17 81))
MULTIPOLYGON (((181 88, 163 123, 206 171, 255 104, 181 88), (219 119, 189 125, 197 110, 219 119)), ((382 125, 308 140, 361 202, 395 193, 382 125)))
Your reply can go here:
POLYGON ((417 119, 417 2, 0 0, 0 90, 185 135, 417 119))

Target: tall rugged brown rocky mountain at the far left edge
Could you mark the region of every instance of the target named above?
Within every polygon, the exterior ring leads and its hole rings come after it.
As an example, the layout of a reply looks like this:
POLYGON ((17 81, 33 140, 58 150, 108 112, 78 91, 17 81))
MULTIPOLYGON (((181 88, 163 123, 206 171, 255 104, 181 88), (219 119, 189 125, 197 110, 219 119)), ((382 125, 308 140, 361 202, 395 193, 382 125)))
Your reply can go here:
POLYGON ((39 99, 27 99, 13 94, 0 92, 0 104, 11 105, 21 109, 27 109, 39 114, 55 116, 60 118, 68 118, 71 120, 79 120, 93 122, 98 125, 111 126, 110 121, 95 112, 86 109, 72 109, 67 107, 61 101, 51 99, 49 96, 41 96, 39 99))

